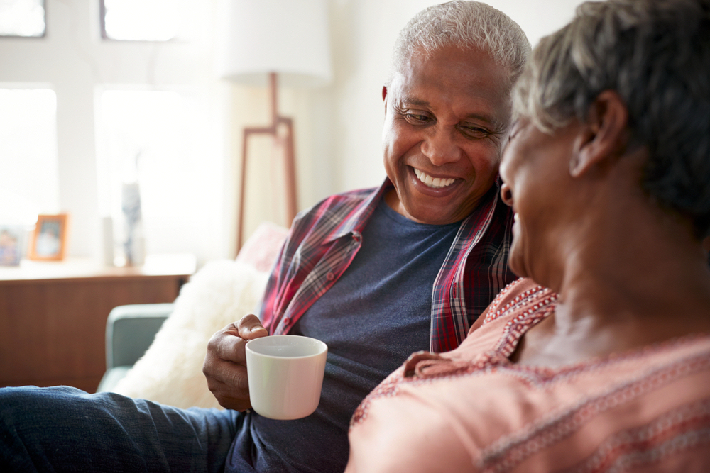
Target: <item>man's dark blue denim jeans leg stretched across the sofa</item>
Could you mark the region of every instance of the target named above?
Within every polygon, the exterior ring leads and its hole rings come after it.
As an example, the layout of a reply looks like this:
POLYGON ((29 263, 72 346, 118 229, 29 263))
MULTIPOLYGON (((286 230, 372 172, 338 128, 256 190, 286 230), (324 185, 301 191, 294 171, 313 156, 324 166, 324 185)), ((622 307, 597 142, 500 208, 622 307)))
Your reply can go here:
POLYGON ((0 389, 1 472, 222 472, 243 416, 58 386, 0 389))

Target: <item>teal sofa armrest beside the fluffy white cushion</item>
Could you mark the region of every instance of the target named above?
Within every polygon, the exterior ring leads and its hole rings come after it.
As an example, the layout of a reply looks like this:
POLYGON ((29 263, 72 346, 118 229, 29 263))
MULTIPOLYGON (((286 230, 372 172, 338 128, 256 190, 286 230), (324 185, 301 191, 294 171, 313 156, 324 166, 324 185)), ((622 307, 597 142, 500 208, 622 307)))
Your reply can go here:
POLYGON ((132 366, 153 343, 173 304, 118 306, 106 323, 106 369, 132 366))

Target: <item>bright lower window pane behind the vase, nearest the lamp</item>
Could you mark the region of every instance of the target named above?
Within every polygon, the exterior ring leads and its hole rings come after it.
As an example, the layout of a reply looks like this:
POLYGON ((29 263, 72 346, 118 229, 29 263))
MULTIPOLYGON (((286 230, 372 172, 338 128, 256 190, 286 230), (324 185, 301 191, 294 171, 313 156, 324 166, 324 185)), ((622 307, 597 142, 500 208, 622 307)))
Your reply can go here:
MULTIPOLYGON (((188 252, 219 209, 220 162, 204 101, 176 91, 105 90, 97 132, 99 206, 125 228, 126 186, 139 189, 146 252, 188 252)), ((120 250, 120 248, 116 248, 120 250)))

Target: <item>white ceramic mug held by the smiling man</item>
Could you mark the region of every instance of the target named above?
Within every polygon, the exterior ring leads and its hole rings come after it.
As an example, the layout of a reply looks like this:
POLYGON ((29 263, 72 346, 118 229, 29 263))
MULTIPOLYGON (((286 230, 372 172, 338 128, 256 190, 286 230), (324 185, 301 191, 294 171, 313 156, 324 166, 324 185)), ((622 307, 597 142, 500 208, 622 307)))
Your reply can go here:
POLYGON ((272 419, 298 419, 320 402, 328 346, 315 338, 272 335, 246 343, 251 407, 272 419))

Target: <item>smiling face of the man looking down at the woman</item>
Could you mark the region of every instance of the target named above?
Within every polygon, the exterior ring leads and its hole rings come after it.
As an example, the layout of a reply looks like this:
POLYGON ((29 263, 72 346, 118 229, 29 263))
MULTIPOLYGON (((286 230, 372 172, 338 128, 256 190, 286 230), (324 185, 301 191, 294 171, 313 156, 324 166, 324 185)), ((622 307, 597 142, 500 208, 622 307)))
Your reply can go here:
POLYGON ((484 52, 415 54, 383 89, 391 208, 420 223, 461 221, 496 180, 510 120, 508 72, 484 52))

